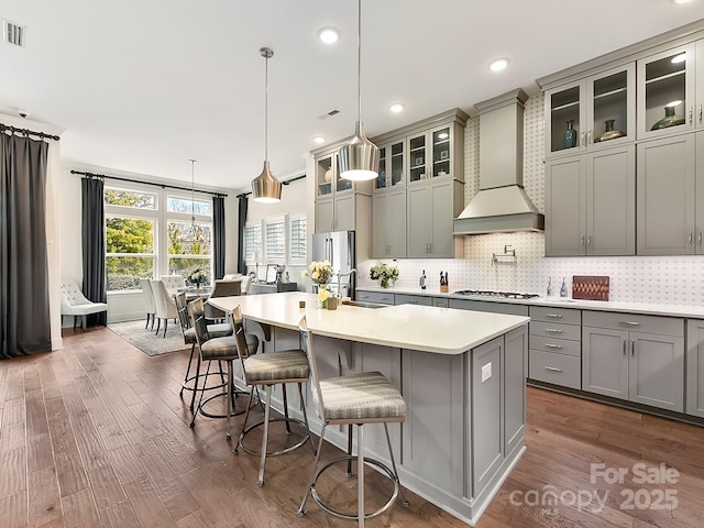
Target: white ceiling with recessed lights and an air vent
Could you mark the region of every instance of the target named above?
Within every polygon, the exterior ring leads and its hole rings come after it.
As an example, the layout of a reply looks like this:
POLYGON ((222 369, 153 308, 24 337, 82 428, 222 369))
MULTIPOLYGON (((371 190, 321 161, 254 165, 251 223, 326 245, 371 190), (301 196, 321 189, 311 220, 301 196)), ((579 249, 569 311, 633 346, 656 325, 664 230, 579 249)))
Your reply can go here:
MULTIPOLYGON (((0 43, 0 112, 66 129, 62 157, 109 170, 244 189, 264 160, 305 170, 315 135, 356 120, 354 0, 0 0, 28 28, 0 43), (317 32, 340 30, 334 45, 317 32), (319 117, 337 109, 336 117, 319 117)), ((369 136, 522 87, 704 18, 704 0, 365 0, 362 114, 369 136), (488 70, 506 56, 510 66, 488 70), (392 102, 405 103, 392 114, 392 102)))

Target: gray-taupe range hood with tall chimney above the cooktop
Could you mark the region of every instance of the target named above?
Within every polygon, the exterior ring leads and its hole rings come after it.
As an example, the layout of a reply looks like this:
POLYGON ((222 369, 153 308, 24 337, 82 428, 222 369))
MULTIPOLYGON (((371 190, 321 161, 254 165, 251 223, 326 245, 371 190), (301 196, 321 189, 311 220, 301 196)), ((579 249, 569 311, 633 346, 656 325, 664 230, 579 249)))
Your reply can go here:
POLYGON ((454 234, 542 231, 544 217, 524 190, 524 90, 476 105, 480 191, 453 220, 454 234))

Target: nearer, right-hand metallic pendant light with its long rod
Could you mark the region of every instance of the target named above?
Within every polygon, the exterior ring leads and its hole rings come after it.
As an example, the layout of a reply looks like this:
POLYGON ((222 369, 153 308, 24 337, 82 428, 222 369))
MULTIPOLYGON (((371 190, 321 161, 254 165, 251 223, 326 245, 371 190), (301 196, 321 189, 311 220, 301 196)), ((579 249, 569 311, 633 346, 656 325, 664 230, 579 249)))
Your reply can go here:
POLYGON ((338 163, 341 178, 363 182, 378 176, 378 147, 366 139, 362 128, 362 0, 358 0, 356 53, 356 127, 354 129, 354 138, 340 148, 338 163))

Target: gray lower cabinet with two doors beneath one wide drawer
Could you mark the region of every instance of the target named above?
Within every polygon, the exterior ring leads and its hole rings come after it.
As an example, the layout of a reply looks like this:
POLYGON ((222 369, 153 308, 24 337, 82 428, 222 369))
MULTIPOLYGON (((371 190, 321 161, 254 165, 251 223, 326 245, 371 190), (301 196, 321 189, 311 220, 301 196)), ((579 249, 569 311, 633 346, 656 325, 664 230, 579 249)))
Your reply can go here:
POLYGON ((684 321, 583 311, 582 389, 684 410, 684 321))

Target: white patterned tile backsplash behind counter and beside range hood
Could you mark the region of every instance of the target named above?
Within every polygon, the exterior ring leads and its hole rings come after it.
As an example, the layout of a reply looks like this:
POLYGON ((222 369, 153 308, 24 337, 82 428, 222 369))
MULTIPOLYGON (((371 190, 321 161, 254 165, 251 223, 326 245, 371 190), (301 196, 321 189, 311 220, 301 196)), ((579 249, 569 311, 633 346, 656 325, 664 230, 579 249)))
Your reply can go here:
MULTIPOLYGON (((526 102, 524 114, 524 185, 538 209, 544 211, 544 121, 543 97, 526 102)), ((465 186, 468 204, 479 189, 479 121, 470 119, 465 132, 465 186)), ((396 287, 418 287, 422 271, 430 289, 439 289, 440 272, 449 273, 450 292, 458 289, 494 289, 546 294, 552 277, 559 295, 564 277, 570 295, 573 275, 608 275, 610 300, 704 305, 704 256, 613 256, 544 257, 542 233, 496 233, 466 237, 464 258, 403 258, 395 264, 400 272, 396 287), (512 246, 516 257, 499 256, 512 246)), ((360 285, 375 286, 369 270, 375 260, 359 263, 360 285)))

